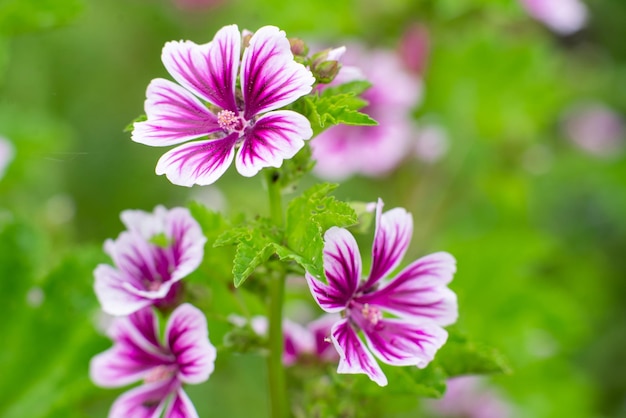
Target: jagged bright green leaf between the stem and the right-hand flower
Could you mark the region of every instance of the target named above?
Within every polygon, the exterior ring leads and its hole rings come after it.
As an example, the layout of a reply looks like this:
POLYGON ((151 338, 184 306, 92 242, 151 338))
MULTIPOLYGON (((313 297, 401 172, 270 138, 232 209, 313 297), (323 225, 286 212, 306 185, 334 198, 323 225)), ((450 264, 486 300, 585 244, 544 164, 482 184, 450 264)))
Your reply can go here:
POLYGON ((328 195, 335 188, 335 184, 317 184, 289 203, 285 230, 288 250, 277 248, 281 258, 296 261, 317 277, 323 276, 324 232, 332 226, 347 227, 357 222, 348 203, 328 195))

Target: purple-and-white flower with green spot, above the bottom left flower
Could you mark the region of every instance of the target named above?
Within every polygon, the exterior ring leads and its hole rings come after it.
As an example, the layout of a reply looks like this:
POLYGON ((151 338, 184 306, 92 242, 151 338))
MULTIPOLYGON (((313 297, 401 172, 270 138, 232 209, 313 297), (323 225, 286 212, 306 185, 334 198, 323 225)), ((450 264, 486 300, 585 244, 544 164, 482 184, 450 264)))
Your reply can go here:
POLYGON ((115 266, 100 264, 94 271, 102 310, 128 315, 146 306, 171 305, 179 281, 202 262, 206 238, 200 225, 186 208, 126 210, 121 218, 128 230, 104 243, 115 266))

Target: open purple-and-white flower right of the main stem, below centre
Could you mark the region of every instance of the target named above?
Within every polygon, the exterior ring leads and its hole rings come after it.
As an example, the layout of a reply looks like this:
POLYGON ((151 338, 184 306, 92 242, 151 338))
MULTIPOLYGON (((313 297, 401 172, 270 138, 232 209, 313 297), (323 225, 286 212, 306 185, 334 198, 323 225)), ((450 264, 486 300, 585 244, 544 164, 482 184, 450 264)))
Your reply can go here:
POLYGON ((324 235, 327 283, 308 272, 306 279, 323 310, 343 315, 331 331, 340 356, 337 372, 365 373, 385 386, 387 377, 374 355, 394 366, 426 367, 447 339, 442 326, 456 321, 458 308, 455 293, 447 287, 456 271, 456 261, 448 253, 422 257, 387 279, 407 251, 413 220, 402 208, 382 214, 382 207, 379 200, 369 276, 361 278, 354 237, 332 227, 324 235))

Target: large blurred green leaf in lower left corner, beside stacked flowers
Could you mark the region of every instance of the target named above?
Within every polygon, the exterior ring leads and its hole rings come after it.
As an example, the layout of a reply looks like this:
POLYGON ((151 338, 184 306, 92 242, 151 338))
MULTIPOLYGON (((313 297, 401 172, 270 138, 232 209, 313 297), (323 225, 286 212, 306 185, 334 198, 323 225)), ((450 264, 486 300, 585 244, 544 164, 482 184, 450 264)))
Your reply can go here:
MULTIPOLYGON (((32 249, 20 249, 23 227, 14 225, 9 230, 18 244, 12 256, 17 260, 32 256, 32 249)), ((4 235, 0 241, 8 244, 7 238, 4 235)), ((22 244, 31 241, 37 242, 31 236, 22 244)), ((20 277, 17 268, 3 276, 3 283, 14 281, 22 289, 0 295, 16 304, 11 313, 6 312, 9 320, 2 330, 1 416, 48 417, 55 409, 76 408, 78 401, 95 390, 88 382, 89 359, 103 347, 94 329, 97 301, 92 272, 103 258, 100 248, 86 246, 64 257, 42 280, 20 277)), ((7 264, 0 262, 0 266, 7 264)), ((11 306, 2 299, 3 306, 11 306)))

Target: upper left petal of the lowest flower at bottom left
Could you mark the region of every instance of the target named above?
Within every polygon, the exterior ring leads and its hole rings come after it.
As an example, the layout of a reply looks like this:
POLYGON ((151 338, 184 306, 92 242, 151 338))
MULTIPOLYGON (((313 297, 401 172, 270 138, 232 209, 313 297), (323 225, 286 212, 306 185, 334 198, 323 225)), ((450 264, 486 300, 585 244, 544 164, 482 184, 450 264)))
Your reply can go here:
POLYGON ((124 386, 145 378, 156 367, 172 364, 174 357, 160 347, 156 332, 149 308, 116 319, 109 330, 115 344, 91 359, 91 380, 104 387, 124 386))

